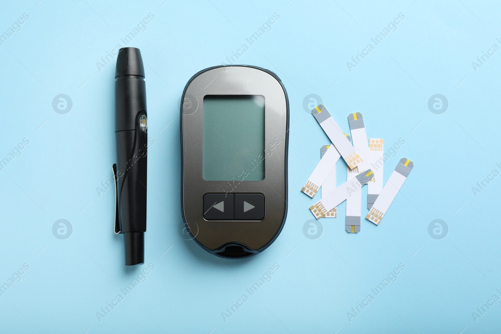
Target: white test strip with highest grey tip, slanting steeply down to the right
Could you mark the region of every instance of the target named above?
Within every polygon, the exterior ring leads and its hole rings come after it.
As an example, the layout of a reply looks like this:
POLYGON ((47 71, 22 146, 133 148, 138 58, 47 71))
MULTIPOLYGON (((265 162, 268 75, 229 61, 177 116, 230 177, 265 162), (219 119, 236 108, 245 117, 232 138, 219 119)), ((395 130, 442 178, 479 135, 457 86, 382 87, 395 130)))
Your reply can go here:
POLYGON ((362 162, 362 158, 355 151, 355 148, 351 145, 348 138, 344 135, 343 131, 336 121, 334 121, 334 118, 332 118, 324 105, 320 104, 316 106, 312 110, 312 114, 350 169, 355 168, 356 165, 362 162))

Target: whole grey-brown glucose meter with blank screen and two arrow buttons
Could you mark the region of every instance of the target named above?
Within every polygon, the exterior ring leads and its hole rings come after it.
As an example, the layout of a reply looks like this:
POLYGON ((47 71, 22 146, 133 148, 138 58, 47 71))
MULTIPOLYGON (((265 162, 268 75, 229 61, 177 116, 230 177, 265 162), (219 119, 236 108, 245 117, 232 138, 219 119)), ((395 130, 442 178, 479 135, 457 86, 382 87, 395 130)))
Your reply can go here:
POLYGON ((205 250, 237 258, 266 249, 287 216, 289 100, 254 66, 195 74, 181 98, 181 213, 205 250))

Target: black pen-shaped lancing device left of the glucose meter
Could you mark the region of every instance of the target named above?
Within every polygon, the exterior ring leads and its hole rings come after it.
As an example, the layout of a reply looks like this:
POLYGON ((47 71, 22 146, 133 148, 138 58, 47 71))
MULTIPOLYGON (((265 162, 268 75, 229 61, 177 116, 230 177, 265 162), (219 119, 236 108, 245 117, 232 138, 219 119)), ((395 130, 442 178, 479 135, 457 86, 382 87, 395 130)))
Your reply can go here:
POLYGON ((120 232, 125 265, 144 263, 147 192, 146 85, 141 52, 122 48, 115 74, 115 137, 120 232))

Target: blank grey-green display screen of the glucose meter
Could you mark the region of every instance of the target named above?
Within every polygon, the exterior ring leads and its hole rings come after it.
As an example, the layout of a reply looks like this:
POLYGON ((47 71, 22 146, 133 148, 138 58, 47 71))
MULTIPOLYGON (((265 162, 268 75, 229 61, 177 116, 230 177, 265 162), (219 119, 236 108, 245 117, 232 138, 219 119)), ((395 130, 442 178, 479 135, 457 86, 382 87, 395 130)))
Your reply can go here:
POLYGON ((265 179, 265 97, 203 98, 203 179, 265 179))

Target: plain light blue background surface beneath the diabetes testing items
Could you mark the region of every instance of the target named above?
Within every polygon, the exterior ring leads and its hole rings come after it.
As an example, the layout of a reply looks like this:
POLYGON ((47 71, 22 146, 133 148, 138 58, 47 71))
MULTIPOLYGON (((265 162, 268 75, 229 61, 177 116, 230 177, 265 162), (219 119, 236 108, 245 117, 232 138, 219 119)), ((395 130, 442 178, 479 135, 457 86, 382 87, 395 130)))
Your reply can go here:
MULTIPOLYGON (((23 263, 30 266, 0 296, 1 332, 498 331, 501 301, 476 322, 472 312, 493 294, 501 297, 495 290, 501 176, 476 197, 471 189, 501 171, 495 165, 501 51, 476 72, 471 64, 492 44, 501 46, 498 3, 38 1, 4 2, 0 11, 0 33, 23 13, 30 16, 0 46, 0 158, 23 138, 30 141, 0 171, 0 283, 23 263), (123 265, 122 236, 113 233, 114 191, 96 191, 111 178, 115 157, 115 59, 101 71, 96 62, 148 13, 154 19, 128 46, 140 48, 146 62, 148 132, 155 140, 146 262, 155 268, 99 321, 96 312, 142 267, 123 265), (274 13, 280 19, 237 64, 268 68, 287 88, 289 214, 262 254, 218 259, 181 237, 178 101, 193 74, 220 65, 274 13), (399 13, 405 19, 397 30, 350 72, 346 63, 399 13), (385 151, 405 140, 385 163, 384 180, 401 157, 414 169, 379 226, 363 219, 360 233, 346 233, 342 204, 338 218, 320 220, 319 239, 303 234, 313 218, 308 207, 320 196, 310 199, 300 189, 329 143, 303 109, 311 93, 344 131, 348 114, 359 111, 368 136, 384 138, 385 151), (437 93, 449 101, 442 115, 427 107, 437 93), (68 114, 53 110, 58 94, 71 97, 68 114), (53 235, 58 219, 71 222, 70 238, 53 235), (442 240, 428 234, 433 219, 448 224, 442 240), (221 312, 274 263, 280 269, 273 279, 225 322, 221 312), (399 263, 405 269, 398 280, 350 322, 347 312, 399 263)), ((344 163, 338 167, 340 184, 346 173, 344 163)))

